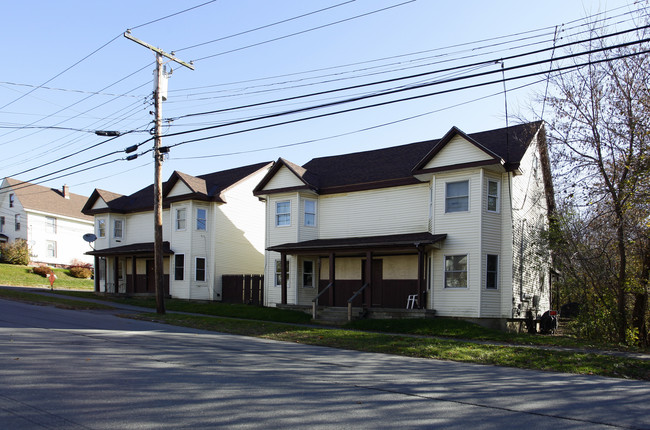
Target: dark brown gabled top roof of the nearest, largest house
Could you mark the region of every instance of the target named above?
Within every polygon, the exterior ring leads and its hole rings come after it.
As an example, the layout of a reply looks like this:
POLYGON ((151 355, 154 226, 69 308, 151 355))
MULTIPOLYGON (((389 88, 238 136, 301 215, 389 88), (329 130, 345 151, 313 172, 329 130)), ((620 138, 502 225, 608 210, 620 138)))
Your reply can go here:
MULTIPOLYGON (((465 135, 452 128, 442 139, 427 140, 390 148, 352 154, 314 158, 302 166, 299 177, 318 193, 337 192, 340 189, 372 189, 393 185, 415 184, 413 169, 430 153, 437 152, 453 135, 460 133, 493 156, 500 157, 506 167, 516 167, 542 122, 516 125, 508 128, 465 135)), ((290 167, 290 163, 280 159, 290 167)), ((293 165, 295 166, 295 165, 293 165)), ((265 194, 264 186, 277 171, 275 166, 255 189, 255 194, 265 194)), ((297 169, 292 168, 294 173, 297 169)))

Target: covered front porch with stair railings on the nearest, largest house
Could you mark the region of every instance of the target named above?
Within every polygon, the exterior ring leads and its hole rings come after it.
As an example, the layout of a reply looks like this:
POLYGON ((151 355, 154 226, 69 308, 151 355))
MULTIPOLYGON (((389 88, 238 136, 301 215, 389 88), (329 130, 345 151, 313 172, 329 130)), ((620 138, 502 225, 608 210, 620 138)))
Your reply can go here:
MULTIPOLYGON (((281 303, 277 305, 288 305, 287 256, 291 255, 318 260, 318 290, 312 299, 314 319, 319 318, 319 307, 347 309, 348 320, 354 318, 354 308, 360 308, 366 315, 380 312, 386 314, 387 310, 395 310, 400 314, 402 310, 425 311, 426 257, 430 250, 438 248, 445 238, 445 234, 433 235, 423 232, 317 239, 269 247, 269 251, 280 253, 281 268, 278 275, 281 303), (386 267, 388 265, 385 261, 389 262, 391 267, 386 267), (393 273, 401 273, 399 276, 385 276, 391 270, 393 273), (345 276, 346 271, 354 272, 354 276, 345 276), (404 273, 409 275, 405 276, 404 273), (381 309, 383 311, 380 311, 381 309)), ((410 314, 401 316, 404 315, 410 314)))

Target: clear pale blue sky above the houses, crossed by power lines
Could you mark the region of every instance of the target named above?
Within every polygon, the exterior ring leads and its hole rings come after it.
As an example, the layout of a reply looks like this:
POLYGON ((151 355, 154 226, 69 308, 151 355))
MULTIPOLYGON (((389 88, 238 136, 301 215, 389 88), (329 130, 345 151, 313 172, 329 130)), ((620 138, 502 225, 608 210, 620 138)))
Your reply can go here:
POLYGON ((165 60, 172 70, 162 105, 166 180, 174 170, 198 176, 279 157, 302 165, 437 139, 453 126, 473 133, 538 120, 547 74, 511 78, 548 70, 549 63, 523 65, 566 54, 553 44, 588 37, 586 21, 606 32, 630 28, 637 7, 633 0, 5 2, 0 177, 66 184, 86 196, 95 188, 131 194, 153 182, 155 54, 125 38, 127 30, 195 67, 165 60), (133 145, 138 157, 126 160, 133 145))

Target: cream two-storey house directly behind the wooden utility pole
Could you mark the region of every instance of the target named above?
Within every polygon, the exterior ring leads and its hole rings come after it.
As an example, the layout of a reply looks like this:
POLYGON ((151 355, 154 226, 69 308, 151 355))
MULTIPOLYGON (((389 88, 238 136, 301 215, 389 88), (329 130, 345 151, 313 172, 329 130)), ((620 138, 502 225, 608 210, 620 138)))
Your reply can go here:
MULTIPOLYGON (((264 204, 252 190, 273 163, 201 176, 174 172, 163 185, 164 287, 175 298, 221 300, 222 275, 264 270, 264 204)), ((152 294, 153 185, 129 196, 95 190, 96 291, 152 294)))

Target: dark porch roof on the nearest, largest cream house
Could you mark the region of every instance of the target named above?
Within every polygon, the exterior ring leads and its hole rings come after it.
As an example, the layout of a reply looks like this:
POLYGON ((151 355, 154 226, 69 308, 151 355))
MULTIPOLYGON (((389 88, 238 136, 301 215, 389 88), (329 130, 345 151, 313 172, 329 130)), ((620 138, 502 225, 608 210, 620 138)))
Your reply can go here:
POLYGON ((318 252, 350 252, 381 250, 417 250, 420 245, 433 245, 444 240, 446 234, 431 234, 429 232, 392 234, 388 236, 345 237, 336 239, 315 239, 304 242, 284 243, 270 246, 268 251, 284 252, 287 254, 318 253, 318 252))

